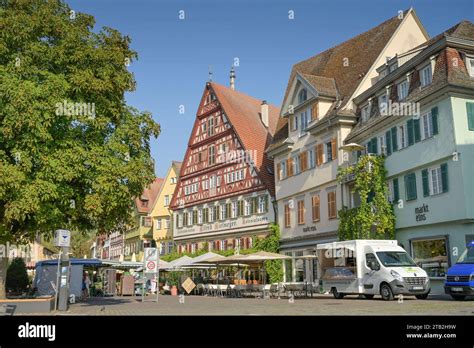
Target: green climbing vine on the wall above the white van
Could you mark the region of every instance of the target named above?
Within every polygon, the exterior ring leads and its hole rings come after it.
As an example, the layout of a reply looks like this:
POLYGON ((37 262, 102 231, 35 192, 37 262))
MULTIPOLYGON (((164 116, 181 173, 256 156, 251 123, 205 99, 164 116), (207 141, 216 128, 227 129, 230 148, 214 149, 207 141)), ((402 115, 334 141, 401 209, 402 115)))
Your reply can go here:
POLYGON ((353 176, 353 190, 360 197, 359 207, 343 207, 338 212, 340 240, 394 238, 395 215, 387 199, 384 162, 383 156, 364 155, 353 166, 339 167, 338 181, 343 183, 348 176, 353 176))

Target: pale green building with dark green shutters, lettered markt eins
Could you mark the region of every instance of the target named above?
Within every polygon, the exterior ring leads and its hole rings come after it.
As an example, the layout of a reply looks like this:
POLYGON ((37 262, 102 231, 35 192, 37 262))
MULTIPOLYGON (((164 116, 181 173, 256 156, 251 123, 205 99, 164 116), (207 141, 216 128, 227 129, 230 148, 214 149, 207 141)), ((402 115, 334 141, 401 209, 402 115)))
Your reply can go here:
POLYGON ((385 156, 396 238, 443 293, 447 269, 474 240, 474 25, 461 22, 378 70, 354 100, 358 124, 346 143, 385 156))

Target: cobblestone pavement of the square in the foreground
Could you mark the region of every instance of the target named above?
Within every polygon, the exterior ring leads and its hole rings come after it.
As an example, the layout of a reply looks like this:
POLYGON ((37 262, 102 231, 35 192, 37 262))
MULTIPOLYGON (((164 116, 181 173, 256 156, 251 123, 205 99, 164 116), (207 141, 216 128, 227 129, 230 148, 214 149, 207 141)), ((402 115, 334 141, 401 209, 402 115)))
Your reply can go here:
MULTIPOLYGON (((336 300, 332 295, 313 298, 221 298, 163 295, 158 303, 149 296, 91 298, 70 306, 61 315, 474 315, 474 299, 454 301, 448 296, 430 296, 427 300, 406 297, 386 302, 347 296, 336 300), (182 302, 183 300, 181 300, 182 302)), ((54 314, 53 314, 54 315, 54 314)))

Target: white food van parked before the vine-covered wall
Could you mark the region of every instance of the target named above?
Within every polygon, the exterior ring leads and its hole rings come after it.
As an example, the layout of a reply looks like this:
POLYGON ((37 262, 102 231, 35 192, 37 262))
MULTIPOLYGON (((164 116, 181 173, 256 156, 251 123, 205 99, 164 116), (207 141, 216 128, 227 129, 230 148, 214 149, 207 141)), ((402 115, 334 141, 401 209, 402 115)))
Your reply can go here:
POLYGON ((317 246, 318 274, 323 291, 335 298, 363 294, 426 299, 431 290, 426 272, 396 240, 350 240, 317 246))

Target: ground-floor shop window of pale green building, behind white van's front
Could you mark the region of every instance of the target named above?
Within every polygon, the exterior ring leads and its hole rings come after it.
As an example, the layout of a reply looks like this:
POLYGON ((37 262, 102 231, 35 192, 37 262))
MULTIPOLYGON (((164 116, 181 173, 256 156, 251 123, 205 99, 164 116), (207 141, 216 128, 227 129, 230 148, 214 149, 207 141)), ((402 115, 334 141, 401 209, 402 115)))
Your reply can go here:
POLYGON ((413 260, 429 277, 440 278, 448 270, 448 241, 446 238, 412 240, 413 260))

